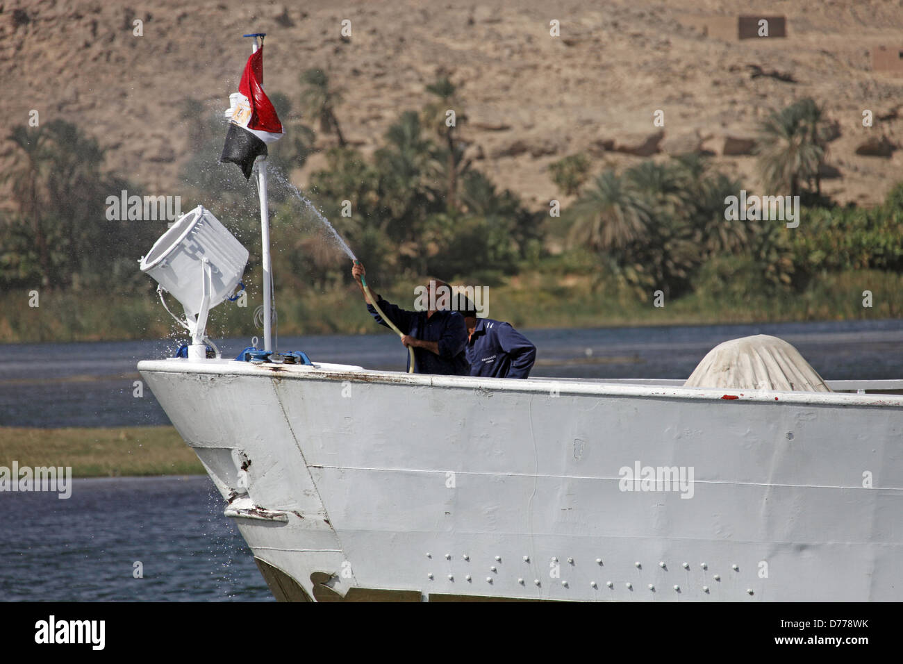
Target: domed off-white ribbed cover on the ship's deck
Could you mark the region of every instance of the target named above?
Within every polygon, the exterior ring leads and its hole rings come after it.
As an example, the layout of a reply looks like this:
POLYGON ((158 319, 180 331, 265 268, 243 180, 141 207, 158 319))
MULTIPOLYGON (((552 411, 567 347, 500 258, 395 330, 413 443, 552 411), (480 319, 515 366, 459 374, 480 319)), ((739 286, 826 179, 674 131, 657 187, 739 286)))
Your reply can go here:
POLYGON ((684 387, 831 391, 796 348, 768 334, 718 344, 690 374, 684 387))

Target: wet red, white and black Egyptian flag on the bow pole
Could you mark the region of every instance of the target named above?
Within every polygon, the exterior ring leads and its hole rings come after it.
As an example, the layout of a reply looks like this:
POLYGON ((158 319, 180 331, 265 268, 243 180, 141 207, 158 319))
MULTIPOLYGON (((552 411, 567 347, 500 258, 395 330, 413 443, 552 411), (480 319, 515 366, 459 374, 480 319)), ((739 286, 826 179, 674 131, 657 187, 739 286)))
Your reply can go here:
POLYGON ((219 162, 238 164, 245 178, 251 177, 254 160, 267 154, 266 144, 282 138, 283 128, 275 108, 266 97, 264 84, 264 47, 247 59, 238 91, 229 95, 229 119, 226 145, 219 162))

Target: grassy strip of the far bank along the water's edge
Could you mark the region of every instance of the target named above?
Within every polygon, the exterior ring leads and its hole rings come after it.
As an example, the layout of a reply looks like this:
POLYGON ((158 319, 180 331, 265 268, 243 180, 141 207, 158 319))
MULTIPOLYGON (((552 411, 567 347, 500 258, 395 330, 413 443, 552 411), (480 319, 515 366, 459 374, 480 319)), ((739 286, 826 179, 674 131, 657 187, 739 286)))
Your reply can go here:
MULTIPOLYGON (((903 275, 880 270, 846 270, 821 276, 805 290, 749 295, 731 280, 709 283, 692 293, 653 304, 653 293, 608 284, 592 286, 587 277, 573 285, 545 274, 517 277, 517 285, 493 286, 489 317, 523 329, 593 329, 654 326, 707 326, 893 320, 903 315, 903 275), (609 287, 610 286, 610 287, 609 287), (863 290, 874 303, 863 305, 863 290)), ((410 290, 386 288, 390 302, 406 302, 410 290)), ((279 295, 281 336, 358 335, 377 332, 358 295, 342 285, 328 292, 279 295), (316 313, 316 315, 311 315, 316 313)), ((114 295, 98 305, 88 291, 50 292, 41 310, 23 309, 22 294, 0 295, 0 343, 144 341, 172 338, 172 320, 151 297, 114 295), (102 331, 102 332, 98 332, 102 331)), ((248 307, 212 312, 209 331, 230 337, 259 335, 248 307)), ((386 332, 388 334, 390 332, 386 332)))

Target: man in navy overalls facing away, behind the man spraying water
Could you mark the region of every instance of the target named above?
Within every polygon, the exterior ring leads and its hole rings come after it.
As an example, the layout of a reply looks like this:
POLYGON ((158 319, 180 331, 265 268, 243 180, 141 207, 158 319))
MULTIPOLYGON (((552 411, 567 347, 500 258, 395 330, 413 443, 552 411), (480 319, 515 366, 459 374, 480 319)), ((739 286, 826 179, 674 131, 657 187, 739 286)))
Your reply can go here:
POLYGON ((536 360, 536 347, 510 323, 477 318, 466 297, 458 300, 467 325, 467 360, 471 376, 526 379, 536 360))

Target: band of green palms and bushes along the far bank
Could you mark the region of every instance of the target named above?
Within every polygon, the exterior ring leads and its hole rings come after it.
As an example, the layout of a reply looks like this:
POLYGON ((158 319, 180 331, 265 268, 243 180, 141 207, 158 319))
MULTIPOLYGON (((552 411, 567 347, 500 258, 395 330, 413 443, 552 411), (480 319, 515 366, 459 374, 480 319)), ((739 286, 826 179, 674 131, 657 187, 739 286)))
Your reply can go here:
MULTIPOLYGON (((811 99, 759 127, 768 192, 803 200, 799 226, 788 229, 780 220, 726 219, 726 197, 744 185, 696 154, 600 172, 587 155, 568 155, 550 175, 573 203, 561 216, 531 211, 465 157, 466 106, 449 79, 428 86, 424 108, 402 111, 368 156, 342 134, 341 97, 325 73, 304 71, 301 82, 296 104, 273 95, 286 126, 269 157, 283 334, 376 331, 350 283, 348 258, 287 185, 287 173, 318 149, 326 167, 303 194, 348 240, 371 282, 402 302, 425 276, 440 276, 493 286, 490 314, 526 326, 878 318, 903 307, 903 184, 872 209, 824 198, 818 173, 831 129, 811 99), (664 308, 652 306, 659 290, 664 308), (862 306, 863 290, 872 292, 872 308, 862 306)), ((216 163, 225 136, 219 111, 189 99, 182 120, 191 150, 182 185, 152 193, 181 195, 182 211, 205 204, 252 252, 251 303, 218 307, 210 332, 253 334, 255 180, 216 163)), ((144 192, 106 173, 103 151, 77 126, 18 126, 7 138, 16 161, 4 176, 13 199, 0 212, 0 341, 169 333, 155 284, 137 269, 165 225, 105 215, 107 196, 144 192), (38 309, 27 304, 33 289, 38 309)))

